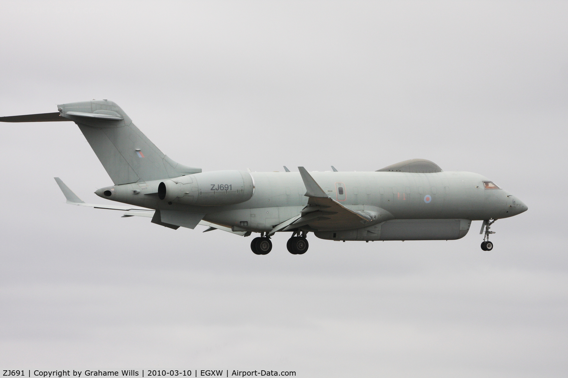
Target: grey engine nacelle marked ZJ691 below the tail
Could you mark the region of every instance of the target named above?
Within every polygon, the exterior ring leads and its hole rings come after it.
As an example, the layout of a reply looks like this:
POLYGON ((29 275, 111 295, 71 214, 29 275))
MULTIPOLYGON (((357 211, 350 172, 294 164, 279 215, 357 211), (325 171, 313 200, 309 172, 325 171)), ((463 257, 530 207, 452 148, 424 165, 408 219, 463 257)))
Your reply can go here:
POLYGON ((235 205, 252 197, 253 181, 244 171, 212 171, 163 180, 158 198, 199 206, 235 205))

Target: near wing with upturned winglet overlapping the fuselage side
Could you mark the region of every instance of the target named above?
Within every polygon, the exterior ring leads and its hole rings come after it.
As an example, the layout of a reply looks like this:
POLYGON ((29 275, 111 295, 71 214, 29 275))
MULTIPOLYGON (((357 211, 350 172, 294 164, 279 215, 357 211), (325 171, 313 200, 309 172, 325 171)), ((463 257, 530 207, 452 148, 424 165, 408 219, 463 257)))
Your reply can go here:
POLYGON ((295 218, 276 226, 273 232, 290 231, 298 227, 313 231, 353 230, 353 228, 360 228, 362 224, 369 223, 379 217, 392 217, 388 211, 375 206, 365 206, 362 210, 350 209, 325 194, 321 186, 306 171, 306 168, 298 167, 298 170, 306 186, 304 196, 309 197, 308 205, 295 218))

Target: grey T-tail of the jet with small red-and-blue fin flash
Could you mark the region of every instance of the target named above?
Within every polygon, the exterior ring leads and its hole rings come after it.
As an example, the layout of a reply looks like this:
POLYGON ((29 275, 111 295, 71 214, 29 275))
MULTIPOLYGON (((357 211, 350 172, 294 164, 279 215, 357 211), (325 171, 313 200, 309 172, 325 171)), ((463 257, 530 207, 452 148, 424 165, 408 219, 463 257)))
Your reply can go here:
POLYGON ((174 162, 150 141, 112 101, 57 105, 59 113, 0 117, 2 122, 73 121, 115 185, 161 180, 201 172, 174 162))

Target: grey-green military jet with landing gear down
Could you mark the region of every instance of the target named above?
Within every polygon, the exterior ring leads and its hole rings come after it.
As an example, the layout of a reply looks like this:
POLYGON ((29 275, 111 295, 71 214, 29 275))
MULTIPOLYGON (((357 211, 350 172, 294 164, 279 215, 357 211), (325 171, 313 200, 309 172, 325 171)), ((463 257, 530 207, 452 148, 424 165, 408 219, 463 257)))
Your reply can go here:
POLYGON ((101 160, 114 185, 97 196, 129 206, 81 201, 56 177, 67 203, 123 210, 177 230, 208 226, 235 235, 260 233, 255 254, 272 250, 270 237, 290 232, 291 254, 308 250, 306 235, 347 241, 455 240, 472 220, 483 220, 481 249, 493 249, 490 226, 527 211, 486 177, 445 172, 425 159, 411 159, 374 172, 212 171, 187 167, 164 155, 114 102, 58 105, 58 112, 0 117, 2 122, 73 121, 101 160))

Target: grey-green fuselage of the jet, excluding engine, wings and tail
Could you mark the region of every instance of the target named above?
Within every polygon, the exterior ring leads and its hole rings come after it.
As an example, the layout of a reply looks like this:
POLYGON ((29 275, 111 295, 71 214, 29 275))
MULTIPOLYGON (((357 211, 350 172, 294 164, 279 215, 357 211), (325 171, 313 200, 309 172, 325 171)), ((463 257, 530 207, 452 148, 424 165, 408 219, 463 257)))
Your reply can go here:
MULTIPOLYGON (((298 172, 250 172, 254 192, 248 201, 228 206, 193 206, 161 201, 156 194, 132 194, 140 183, 115 185, 112 198, 149 209, 206 214, 204 220, 253 232, 269 232, 297 215, 308 198, 298 172), (246 224, 246 226, 243 226, 246 224)), ((485 189, 486 177, 471 172, 310 172, 329 197, 353 210, 380 211, 371 222, 342 231, 364 228, 392 219, 501 219, 527 210, 527 206, 503 189, 485 189), (343 184, 343 195, 337 190, 343 184)), ((156 193, 158 181, 148 182, 147 193, 156 193)), ((469 229, 469 224, 467 225, 469 229)), ((466 231, 467 232, 467 231, 466 231)))

